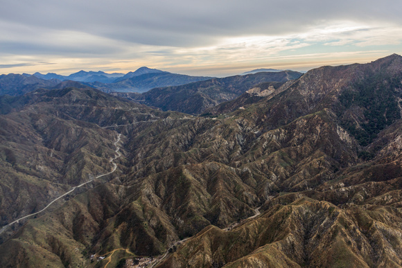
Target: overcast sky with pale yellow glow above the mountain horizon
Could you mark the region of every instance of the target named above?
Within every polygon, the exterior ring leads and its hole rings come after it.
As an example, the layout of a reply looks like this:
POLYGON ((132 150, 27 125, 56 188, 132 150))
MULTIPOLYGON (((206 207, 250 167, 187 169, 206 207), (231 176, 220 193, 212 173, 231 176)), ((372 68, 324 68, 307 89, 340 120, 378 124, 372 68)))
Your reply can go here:
POLYGON ((1 0, 0 73, 227 76, 402 54, 401 0, 1 0))

